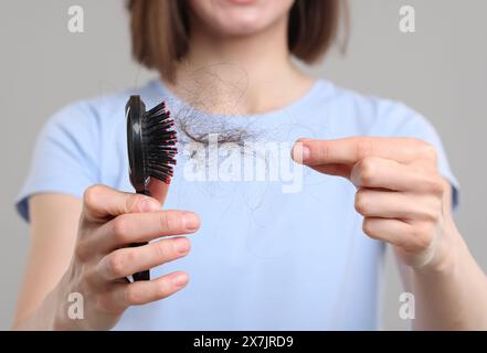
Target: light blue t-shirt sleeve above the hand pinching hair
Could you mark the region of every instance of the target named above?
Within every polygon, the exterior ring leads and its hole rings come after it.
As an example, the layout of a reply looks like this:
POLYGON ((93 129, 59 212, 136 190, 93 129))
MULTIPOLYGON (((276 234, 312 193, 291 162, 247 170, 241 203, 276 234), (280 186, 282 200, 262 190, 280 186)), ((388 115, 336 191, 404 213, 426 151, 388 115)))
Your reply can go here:
POLYGON ((436 149, 438 171, 452 185, 452 205, 456 210, 459 203, 459 183, 452 171, 443 142, 433 125, 421 114, 403 104, 385 104, 381 110, 382 118, 379 119, 379 124, 382 128, 380 130, 383 131, 383 126, 389 126, 390 136, 416 138, 436 149))

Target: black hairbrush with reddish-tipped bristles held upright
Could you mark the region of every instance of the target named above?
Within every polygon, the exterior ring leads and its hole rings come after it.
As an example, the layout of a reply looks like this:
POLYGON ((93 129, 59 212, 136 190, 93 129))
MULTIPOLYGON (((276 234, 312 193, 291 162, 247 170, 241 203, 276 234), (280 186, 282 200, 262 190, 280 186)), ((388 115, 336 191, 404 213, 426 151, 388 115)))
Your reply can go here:
MULTIPOLYGON (((146 111, 140 96, 130 96, 125 106, 125 116, 130 183, 137 193, 150 196, 148 186, 151 178, 169 184, 173 174, 177 153, 174 120, 166 109, 165 101, 146 111)), ((129 281, 149 279, 149 270, 128 278, 129 281)))

